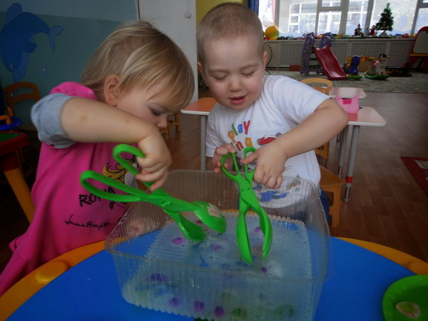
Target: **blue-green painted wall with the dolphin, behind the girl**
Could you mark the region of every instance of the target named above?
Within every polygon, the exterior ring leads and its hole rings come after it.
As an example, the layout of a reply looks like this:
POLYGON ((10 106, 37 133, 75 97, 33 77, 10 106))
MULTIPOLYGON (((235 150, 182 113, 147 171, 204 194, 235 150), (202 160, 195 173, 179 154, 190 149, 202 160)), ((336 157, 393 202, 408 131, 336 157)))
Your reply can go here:
MULTIPOLYGON (((138 0, 1 0, 2 86, 30 81, 46 96, 63 81, 79 81, 103 39, 136 19, 138 0)), ((16 108, 25 124, 31 123, 31 105, 16 108)))

